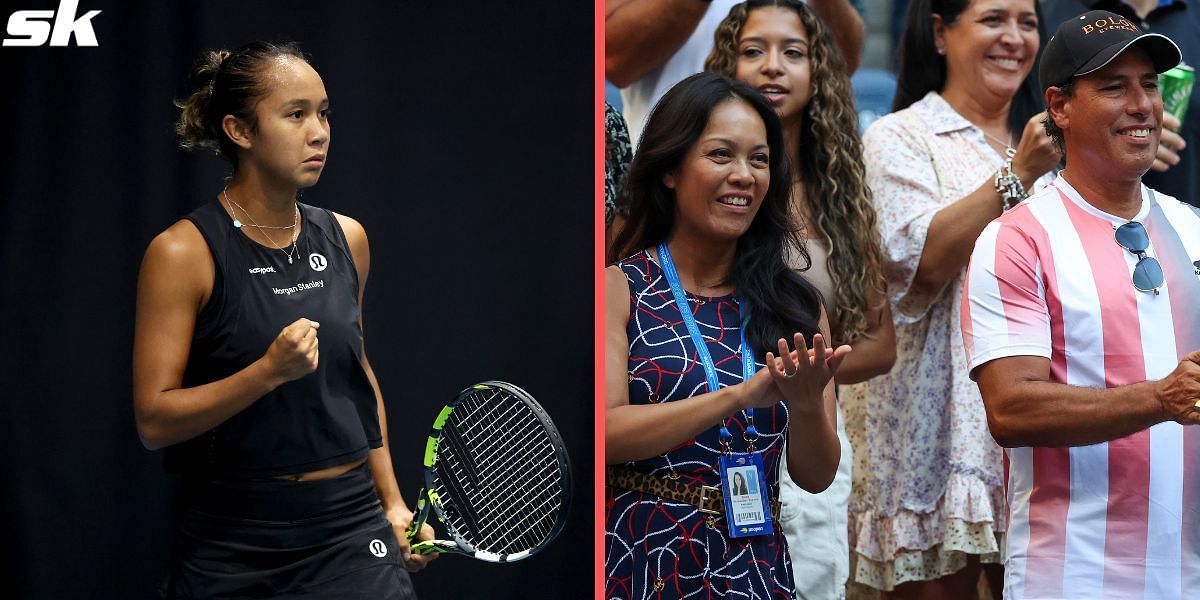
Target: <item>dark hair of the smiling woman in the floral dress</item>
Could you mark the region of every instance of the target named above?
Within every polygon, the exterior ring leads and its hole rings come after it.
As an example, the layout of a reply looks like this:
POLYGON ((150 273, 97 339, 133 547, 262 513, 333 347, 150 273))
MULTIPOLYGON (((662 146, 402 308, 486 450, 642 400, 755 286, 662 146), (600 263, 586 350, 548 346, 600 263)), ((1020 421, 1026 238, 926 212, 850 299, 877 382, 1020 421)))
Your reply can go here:
MULTIPOLYGON (((913 102, 925 97, 930 91, 942 91, 946 86, 946 56, 937 53, 934 40, 934 14, 942 17, 942 23, 952 25, 971 5, 972 0, 912 0, 905 16, 904 35, 900 36, 900 54, 896 78, 896 95, 892 101, 892 110, 908 108, 913 102)), ((1033 10, 1038 16, 1038 37, 1045 40, 1045 25, 1042 23, 1042 2, 1036 0, 1033 10)), ((1033 64, 1042 59, 1042 46, 1033 64)), ((1014 144, 1021 139, 1025 124, 1031 116, 1045 109, 1045 100, 1038 89, 1038 73, 1031 68, 1021 86, 1013 95, 1013 104, 1008 109, 1008 128, 1013 132, 1014 144)))

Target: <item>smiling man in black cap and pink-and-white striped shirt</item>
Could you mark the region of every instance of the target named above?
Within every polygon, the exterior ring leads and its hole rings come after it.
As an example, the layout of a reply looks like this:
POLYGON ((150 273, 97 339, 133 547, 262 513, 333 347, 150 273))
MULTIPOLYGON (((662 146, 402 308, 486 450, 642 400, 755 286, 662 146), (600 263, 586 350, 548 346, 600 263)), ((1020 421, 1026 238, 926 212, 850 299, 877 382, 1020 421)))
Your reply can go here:
POLYGON ((976 242, 962 336, 1008 448, 1006 599, 1200 594, 1200 214, 1141 184, 1178 61, 1117 14, 1064 22, 1039 76, 1067 168, 976 242))

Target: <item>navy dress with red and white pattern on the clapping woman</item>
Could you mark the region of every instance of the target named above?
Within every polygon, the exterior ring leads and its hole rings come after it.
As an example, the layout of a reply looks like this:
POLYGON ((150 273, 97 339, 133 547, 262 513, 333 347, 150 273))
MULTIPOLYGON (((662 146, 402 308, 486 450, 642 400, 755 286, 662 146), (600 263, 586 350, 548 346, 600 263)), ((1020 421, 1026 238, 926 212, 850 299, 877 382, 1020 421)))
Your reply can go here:
MULTIPOLYGON (((672 402, 706 394, 708 384, 696 348, 676 308, 662 270, 641 252, 617 263, 629 280, 629 403, 672 402)), ((688 294, 689 310, 708 342, 722 386, 742 383, 738 305, 733 295, 688 294)), ((760 364, 760 368, 763 365, 760 364)), ((745 451, 745 415, 730 416, 733 451, 745 451)), ((755 410, 770 497, 779 497, 779 461, 787 430, 782 401, 755 410)), ((720 485, 718 424, 670 451, 626 463, 648 475, 694 486, 720 485)), ((709 521, 695 506, 658 496, 605 488, 605 598, 760 599, 793 595, 787 545, 775 523, 773 535, 728 538, 725 520, 709 521)))

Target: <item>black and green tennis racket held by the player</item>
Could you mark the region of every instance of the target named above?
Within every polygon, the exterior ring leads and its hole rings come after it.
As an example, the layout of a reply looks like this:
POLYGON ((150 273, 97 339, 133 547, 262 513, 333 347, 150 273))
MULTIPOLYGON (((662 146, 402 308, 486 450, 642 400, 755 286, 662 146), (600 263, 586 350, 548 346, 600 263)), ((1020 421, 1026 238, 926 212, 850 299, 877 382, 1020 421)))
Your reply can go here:
POLYGON ((419 554, 521 560, 563 530, 570 496, 566 446, 546 410, 516 385, 484 382, 433 421, 408 541, 419 554), (430 509, 451 539, 415 542, 430 509))

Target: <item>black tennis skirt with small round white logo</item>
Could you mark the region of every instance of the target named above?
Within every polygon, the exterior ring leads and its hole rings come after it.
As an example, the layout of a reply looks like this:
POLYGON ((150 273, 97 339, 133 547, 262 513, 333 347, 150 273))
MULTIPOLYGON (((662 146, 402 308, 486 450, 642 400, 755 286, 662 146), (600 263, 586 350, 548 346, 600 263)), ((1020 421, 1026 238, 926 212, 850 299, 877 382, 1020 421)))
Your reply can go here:
POLYGON ((366 463, 337 478, 185 485, 168 599, 415 600, 366 463))

